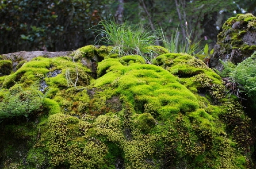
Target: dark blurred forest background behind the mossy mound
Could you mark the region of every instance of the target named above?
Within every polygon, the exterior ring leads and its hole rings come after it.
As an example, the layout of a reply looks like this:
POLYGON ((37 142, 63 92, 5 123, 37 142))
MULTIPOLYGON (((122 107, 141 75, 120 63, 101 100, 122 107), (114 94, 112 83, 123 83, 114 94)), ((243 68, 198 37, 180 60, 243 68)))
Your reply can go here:
POLYGON ((237 13, 255 14, 256 1, 0 0, 0 54, 94 45, 97 32, 90 28, 109 18, 213 47, 222 24, 237 13))

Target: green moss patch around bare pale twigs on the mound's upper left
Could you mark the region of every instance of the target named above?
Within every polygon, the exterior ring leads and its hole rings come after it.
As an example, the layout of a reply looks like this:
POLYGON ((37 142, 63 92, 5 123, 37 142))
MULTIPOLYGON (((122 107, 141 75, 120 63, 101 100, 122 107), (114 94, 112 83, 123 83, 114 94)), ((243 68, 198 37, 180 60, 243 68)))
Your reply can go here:
POLYGON ((72 59, 68 57, 37 57, 30 62, 24 63, 18 71, 5 78, 3 87, 10 88, 15 83, 22 83, 24 86, 27 86, 45 78, 47 85, 63 88, 68 87, 70 83, 70 85, 74 85, 77 74, 79 78, 76 85, 87 85, 90 80, 88 76, 90 72, 87 67, 72 62, 72 59), (51 76, 56 70, 62 70, 61 74, 56 74, 55 77, 51 76))

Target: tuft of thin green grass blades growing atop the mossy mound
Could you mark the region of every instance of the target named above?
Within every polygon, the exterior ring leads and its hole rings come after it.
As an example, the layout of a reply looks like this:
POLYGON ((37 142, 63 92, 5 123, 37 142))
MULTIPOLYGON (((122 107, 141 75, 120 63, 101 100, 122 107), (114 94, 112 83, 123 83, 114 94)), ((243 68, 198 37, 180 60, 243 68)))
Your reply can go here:
POLYGON ((118 51, 119 57, 125 55, 141 55, 146 61, 146 47, 155 45, 158 39, 154 32, 148 31, 141 24, 135 26, 128 25, 127 22, 117 24, 114 20, 103 20, 99 23, 102 29, 98 36, 102 36, 97 42, 104 42, 113 45, 112 53, 118 51))

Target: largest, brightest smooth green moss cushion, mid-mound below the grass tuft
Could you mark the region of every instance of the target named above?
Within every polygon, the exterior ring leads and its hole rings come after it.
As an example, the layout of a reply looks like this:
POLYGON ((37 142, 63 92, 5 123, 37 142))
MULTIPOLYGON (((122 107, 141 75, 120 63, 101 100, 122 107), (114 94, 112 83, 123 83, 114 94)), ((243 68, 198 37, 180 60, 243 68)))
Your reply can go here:
POLYGON ((179 84, 177 78, 158 66, 123 66, 118 59, 105 59, 98 68, 100 74, 106 74, 93 84, 97 87, 106 84, 118 87, 117 91, 132 104, 136 103, 141 107, 146 104, 152 104, 153 107, 157 104, 169 104, 182 111, 192 111, 198 107, 194 95, 179 84))

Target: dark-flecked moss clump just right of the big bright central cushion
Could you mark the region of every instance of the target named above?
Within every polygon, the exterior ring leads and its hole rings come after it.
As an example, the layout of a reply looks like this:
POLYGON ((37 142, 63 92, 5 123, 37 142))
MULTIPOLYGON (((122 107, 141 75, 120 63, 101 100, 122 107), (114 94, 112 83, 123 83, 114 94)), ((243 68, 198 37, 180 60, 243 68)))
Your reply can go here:
POLYGON ((186 53, 167 53, 155 58, 153 64, 178 76, 180 82, 193 93, 204 96, 209 93, 215 101, 224 97, 225 86, 221 77, 209 69, 202 60, 186 53))

